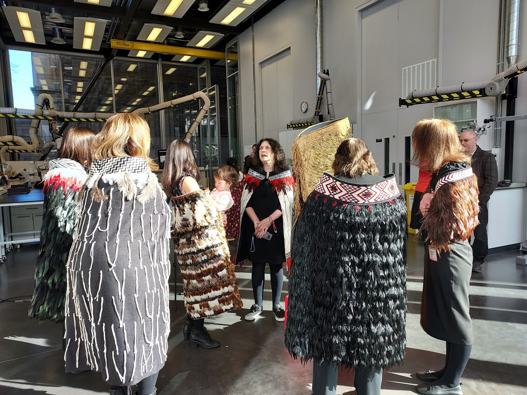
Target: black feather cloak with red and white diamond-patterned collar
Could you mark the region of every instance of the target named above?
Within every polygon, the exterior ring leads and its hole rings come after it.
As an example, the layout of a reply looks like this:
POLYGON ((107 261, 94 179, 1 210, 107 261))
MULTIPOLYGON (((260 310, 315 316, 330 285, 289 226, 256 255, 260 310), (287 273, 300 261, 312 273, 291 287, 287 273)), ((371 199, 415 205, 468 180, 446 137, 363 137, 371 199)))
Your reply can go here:
POLYGON ((327 173, 294 227, 285 344, 302 362, 389 368, 406 345, 406 204, 395 176, 327 173))

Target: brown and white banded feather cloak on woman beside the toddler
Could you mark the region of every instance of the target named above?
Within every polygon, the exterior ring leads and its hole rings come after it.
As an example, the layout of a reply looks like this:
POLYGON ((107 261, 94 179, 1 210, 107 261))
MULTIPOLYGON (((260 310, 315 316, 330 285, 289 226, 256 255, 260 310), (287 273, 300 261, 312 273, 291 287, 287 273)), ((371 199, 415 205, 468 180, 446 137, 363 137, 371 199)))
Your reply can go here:
POLYGON ((172 197, 174 248, 191 318, 241 309, 221 214, 203 191, 172 197))

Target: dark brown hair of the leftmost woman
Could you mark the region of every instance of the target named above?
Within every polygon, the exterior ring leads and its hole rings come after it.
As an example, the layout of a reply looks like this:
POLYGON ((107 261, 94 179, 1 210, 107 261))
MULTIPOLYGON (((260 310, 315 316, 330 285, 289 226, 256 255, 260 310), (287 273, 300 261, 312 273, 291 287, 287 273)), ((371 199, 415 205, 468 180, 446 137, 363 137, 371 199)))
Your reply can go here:
POLYGON ((92 146, 95 132, 89 127, 72 126, 64 132, 57 159, 71 159, 85 167, 92 164, 92 146))

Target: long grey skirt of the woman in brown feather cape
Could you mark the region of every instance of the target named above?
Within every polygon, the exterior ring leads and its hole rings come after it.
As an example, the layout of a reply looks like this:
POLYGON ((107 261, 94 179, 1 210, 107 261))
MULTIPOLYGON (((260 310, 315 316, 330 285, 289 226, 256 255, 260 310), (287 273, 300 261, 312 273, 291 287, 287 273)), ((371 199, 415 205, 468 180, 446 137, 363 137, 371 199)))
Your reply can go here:
POLYGON ((434 261, 425 243, 421 326, 433 338, 468 345, 474 339, 469 303, 472 248, 466 240, 449 246, 451 250, 434 261))

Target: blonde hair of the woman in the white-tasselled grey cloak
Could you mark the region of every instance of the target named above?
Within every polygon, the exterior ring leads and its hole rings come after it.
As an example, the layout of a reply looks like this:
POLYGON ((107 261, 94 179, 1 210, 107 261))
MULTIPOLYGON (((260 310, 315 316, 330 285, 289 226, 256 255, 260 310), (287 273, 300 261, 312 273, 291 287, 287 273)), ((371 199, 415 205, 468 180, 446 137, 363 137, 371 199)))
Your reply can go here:
POLYGON ((108 118, 93 139, 93 160, 117 156, 136 156, 147 160, 151 170, 159 166, 150 159, 150 127, 147 121, 132 113, 108 118))

